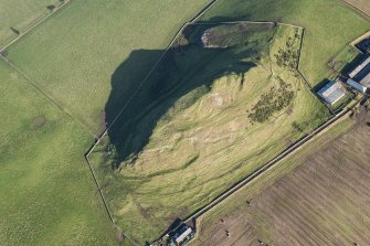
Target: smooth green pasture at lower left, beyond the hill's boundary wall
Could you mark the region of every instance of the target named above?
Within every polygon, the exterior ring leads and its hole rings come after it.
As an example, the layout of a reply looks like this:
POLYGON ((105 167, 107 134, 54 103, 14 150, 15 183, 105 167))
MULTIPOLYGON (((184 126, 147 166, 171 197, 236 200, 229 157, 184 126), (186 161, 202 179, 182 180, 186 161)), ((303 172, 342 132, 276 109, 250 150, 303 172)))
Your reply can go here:
POLYGON ((89 136, 0 62, 0 244, 116 245, 83 153, 89 136))

